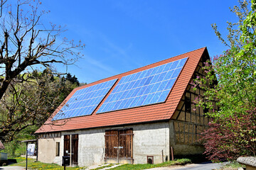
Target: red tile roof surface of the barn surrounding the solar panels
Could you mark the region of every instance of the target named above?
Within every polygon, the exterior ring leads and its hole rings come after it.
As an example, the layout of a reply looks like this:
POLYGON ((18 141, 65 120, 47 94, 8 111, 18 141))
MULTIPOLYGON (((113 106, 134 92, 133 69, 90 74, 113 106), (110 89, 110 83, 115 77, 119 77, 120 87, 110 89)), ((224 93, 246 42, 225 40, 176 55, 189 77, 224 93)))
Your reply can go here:
POLYGON ((178 55, 176 57, 171 57, 167 60, 163 60, 161 62, 156 62, 154 64, 149 64, 145 67, 141 67, 139 69, 134 69, 129 72, 125 72, 122 74, 118 74, 113 77, 109 77, 107 79, 102 79, 100 81, 95 81, 92 84, 87 84, 85 86, 80 86, 76 89, 74 89, 68 97, 63 101, 63 104, 61 104, 56 111, 48 118, 46 123, 39 128, 36 133, 41 132, 58 132, 63 130, 78 130, 78 129, 86 129, 86 128, 97 128, 97 127, 107 127, 107 126, 115 126, 115 125, 126 125, 126 124, 134 124, 134 123, 145 123, 145 122, 151 122, 151 121, 158 121, 158 120, 169 120, 171 116, 174 114, 174 111, 176 110, 176 107, 178 106, 179 101, 181 100, 181 97, 183 96, 183 93, 188 86, 189 81, 191 80, 191 77, 193 76, 193 72, 195 72, 195 69, 198 65, 198 62, 200 61, 203 53, 206 52, 206 55, 208 55, 206 47, 200 48, 198 50, 194 50, 191 52, 184 53, 183 55, 178 55), (115 86, 117 86, 118 81, 129 74, 134 74, 136 72, 141 72, 145 69, 150 69, 152 67, 157 67, 161 64, 166 64, 168 62, 174 62, 176 60, 180 60, 182 58, 188 57, 188 60, 186 64, 183 67, 183 70, 181 71, 181 74, 179 75, 178 79, 176 80, 176 83, 173 86, 173 89, 171 89, 171 93, 166 99, 166 102, 164 103, 156 103, 150 106, 141 106, 138 108, 128 108, 121 111, 112 111, 109 113, 101 113, 101 114, 95 114, 97 110, 100 108, 102 103, 106 100, 107 96, 110 95, 111 91, 114 89, 115 86), (103 101, 100 103, 100 105, 95 109, 95 111, 92 113, 92 115, 85 115, 82 117, 76 117, 76 118, 68 118, 65 120, 57 120, 55 122, 52 122, 51 119, 54 117, 55 114, 60 111, 62 106, 66 101, 68 101, 73 94, 75 94, 75 91, 79 89, 86 88, 88 86, 93 86, 95 84, 100 84, 104 81, 109 81, 111 79, 118 79, 117 83, 114 84, 112 89, 110 89, 110 92, 103 98, 103 101), (54 124, 53 124, 54 123, 54 124))

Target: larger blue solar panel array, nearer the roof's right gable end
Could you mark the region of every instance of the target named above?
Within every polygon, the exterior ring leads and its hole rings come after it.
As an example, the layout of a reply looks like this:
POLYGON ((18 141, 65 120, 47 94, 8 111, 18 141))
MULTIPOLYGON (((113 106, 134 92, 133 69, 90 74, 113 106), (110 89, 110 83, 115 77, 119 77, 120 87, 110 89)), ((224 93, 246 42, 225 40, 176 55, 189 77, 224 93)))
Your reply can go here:
POLYGON ((183 58, 122 77, 97 113, 166 101, 187 59, 183 58))

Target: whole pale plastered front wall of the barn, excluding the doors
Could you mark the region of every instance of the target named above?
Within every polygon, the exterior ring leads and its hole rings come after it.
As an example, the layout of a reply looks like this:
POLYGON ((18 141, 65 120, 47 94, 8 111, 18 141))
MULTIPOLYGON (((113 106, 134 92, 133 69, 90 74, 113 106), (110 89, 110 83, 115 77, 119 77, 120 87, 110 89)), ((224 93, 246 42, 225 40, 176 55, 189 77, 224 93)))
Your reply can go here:
MULTIPOLYGON (((166 160, 166 156, 168 156, 169 159, 169 122, 129 125, 122 128, 133 128, 134 164, 146 164, 147 156, 154 156, 154 164, 161 163, 162 150, 164 161, 166 160)), ((63 156, 64 135, 79 134, 78 166, 105 164, 105 130, 111 130, 111 128, 61 132, 61 138, 58 139, 58 141, 60 140, 60 158, 62 159, 63 156)), ((53 139, 38 140, 40 148, 47 147, 47 149, 41 149, 41 152, 39 151, 39 161, 61 164, 61 159, 53 157, 53 152, 55 155, 55 142, 56 140, 53 139)))

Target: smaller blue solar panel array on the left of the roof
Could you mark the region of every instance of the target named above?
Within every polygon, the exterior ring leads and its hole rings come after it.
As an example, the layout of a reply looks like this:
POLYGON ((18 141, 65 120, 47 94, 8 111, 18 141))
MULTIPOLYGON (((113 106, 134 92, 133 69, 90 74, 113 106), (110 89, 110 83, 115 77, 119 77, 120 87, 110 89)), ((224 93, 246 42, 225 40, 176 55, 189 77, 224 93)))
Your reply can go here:
POLYGON ((117 79, 112 79, 75 91, 75 94, 65 103, 65 106, 60 109, 52 120, 92 114, 116 81, 117 79))

